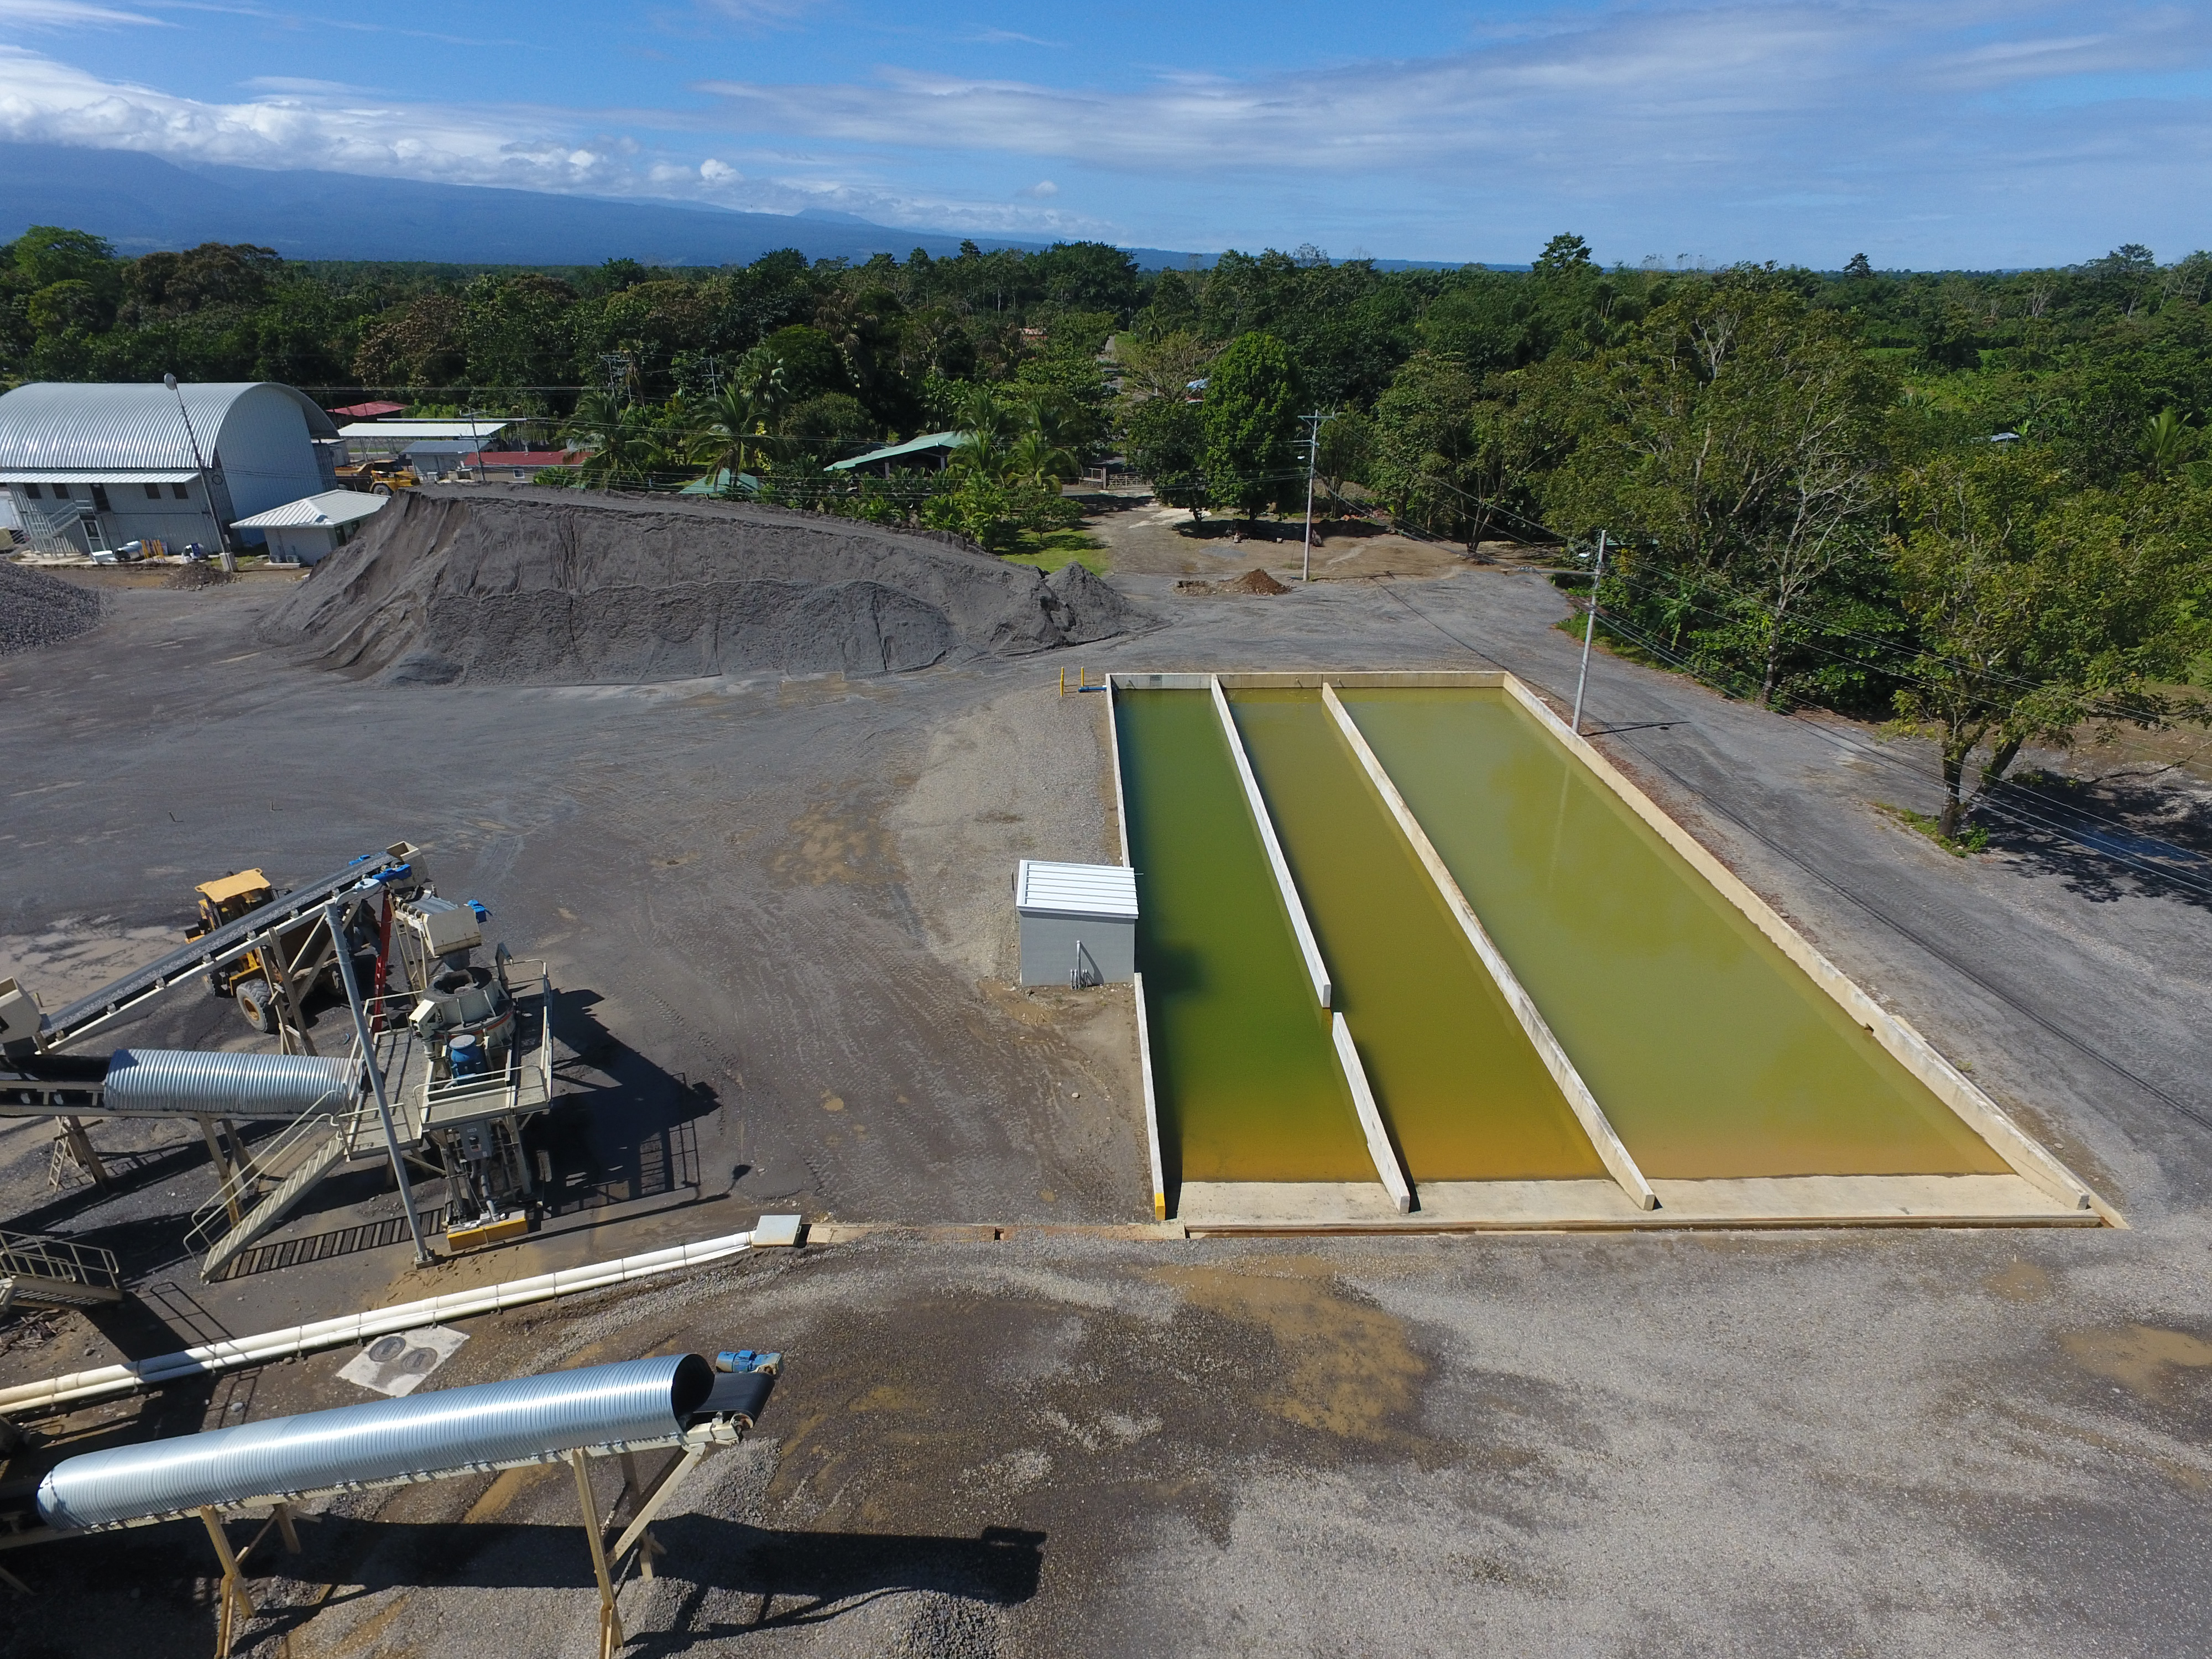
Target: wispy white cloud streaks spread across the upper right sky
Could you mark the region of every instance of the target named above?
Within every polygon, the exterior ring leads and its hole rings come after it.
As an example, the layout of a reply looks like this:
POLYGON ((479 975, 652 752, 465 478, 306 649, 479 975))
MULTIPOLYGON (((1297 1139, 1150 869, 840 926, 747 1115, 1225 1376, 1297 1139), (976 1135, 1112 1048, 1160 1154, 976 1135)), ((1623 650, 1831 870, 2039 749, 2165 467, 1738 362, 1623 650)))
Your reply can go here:
POLYGON ((847 144, 1068 157, 1137 173, 1380 173, 1467 159, 1648 173, 1770 155, 1770 135, 1865 135, 1867 115, 1955 126, 1964 93, 2057 75, 2203 62, 2212 33, 2179 9, 2090 13, 2033 33, 2035 7, 1732 4, 1619 9, 1475 51, 1234 80, 1159 75, 1137 91, 883 69, 872 82, 706 82, 748 128, 847 144), (1986 42, 2000 18, 2024 38, 1986 42), (1947 108, 1951 104, 1951 108, 1947 108), (1834 122, 1834 126, 1829 124, 1834 122))

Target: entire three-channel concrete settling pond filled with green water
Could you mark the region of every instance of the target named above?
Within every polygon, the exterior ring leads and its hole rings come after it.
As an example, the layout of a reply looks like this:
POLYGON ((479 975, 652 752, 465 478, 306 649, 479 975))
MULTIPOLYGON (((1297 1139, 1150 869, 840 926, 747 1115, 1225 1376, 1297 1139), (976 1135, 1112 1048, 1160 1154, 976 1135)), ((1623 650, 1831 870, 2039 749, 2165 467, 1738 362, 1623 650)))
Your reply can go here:
POLYGON ((1325 679, 1113 684, 1179 1219, 2119 1221, 1517 681, 1325 679))

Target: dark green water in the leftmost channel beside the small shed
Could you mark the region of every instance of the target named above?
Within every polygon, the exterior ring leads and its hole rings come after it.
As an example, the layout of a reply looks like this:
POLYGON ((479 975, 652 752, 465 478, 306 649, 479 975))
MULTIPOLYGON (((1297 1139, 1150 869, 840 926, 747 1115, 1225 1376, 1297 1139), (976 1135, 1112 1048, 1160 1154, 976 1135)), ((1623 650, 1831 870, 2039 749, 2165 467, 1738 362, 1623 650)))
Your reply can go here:
POLYGON ((1166 1177, 1374 1181, 1352 1093, 1206 692, 1115 692, 1166 1177))

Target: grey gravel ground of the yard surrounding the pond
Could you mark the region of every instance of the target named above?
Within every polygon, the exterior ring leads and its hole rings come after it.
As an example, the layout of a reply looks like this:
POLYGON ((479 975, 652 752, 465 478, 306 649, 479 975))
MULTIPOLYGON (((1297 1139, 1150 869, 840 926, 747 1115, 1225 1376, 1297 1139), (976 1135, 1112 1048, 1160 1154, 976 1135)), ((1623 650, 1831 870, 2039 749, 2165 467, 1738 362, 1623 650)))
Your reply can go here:
MULTIPOLYGON (((1573 690, 1564 604, 1531 575, 1267 602, 1177 602, 1175 575, 1117 577, 1172 622, 1086 648, 1093 677, 1504 664, 1573 690)), ((46 982, 95 973, 131 929, 173 927, 210 869, 307 876, 429 841, 456 891, 591 998, 606 1046, 586 1044, 573 1157, 630 1197, 429 1279, 403 1250, 212 1290, 148 1265, 150 1327, 58 1321, 0 1354, 7 1380, 783 1203, 991 1221, 998 1241, 878 1230, 476 1321, 438 1380, 785 1349, 759 1440, 708 1464, 661 1528, 664 1575, 624 1593, 641 1655, 2203 1650, 2212 911, 2194 889, 2051 838, 1951 858, 1878 810, 1933 805, 1911 745, 1599 657, 1597 741, 2130 1228, 1139 1243, 1099 1237, 1144 1206, 1126 1004, 1004 984, 1013 858, 1113 845, 1104 699, 1053 695, 1066 657, 385 688, 254 655, 265 604, 133 591, 95 635, 0 661, 0 770, 31 779, 0 825, 0 973, 33 956, 46 982), (708 1186, 655 1208, 646 1177, 684 1135, 708 1186)), ((219 1015, 181 1000, 161 1020, 188 1035, 219 1015)), ((0 1203, 146 1263, 206 1177, 179 1141, 88 1203, 46 1192, 42 1155, 42 1133, 0 1133, 0 1203)), ((332 1376, 345 1358, 77 1431, 341 1405, 361 1398, 332 1376)), ((254 1650, 588 1652, 573 1504, 560 1473, 347 1500, 296 1564, 268 1559, 283 1577, 257 1586, 281 1610, 254 1650)), ((0 1619, 0 1655, 208 1646, 188 1526, 7 1566, 40 1595, 0 1619)))

